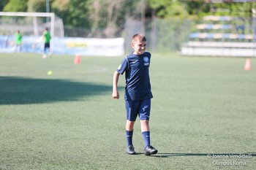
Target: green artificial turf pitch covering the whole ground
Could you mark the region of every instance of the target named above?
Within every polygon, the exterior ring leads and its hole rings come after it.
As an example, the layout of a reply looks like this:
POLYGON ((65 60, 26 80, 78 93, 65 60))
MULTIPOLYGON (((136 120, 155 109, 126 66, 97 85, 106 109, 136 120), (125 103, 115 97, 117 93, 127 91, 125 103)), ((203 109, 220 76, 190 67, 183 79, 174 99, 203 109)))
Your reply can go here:
POLYGON ((151 144, 127 155, 122 57, 0 53, 0 169, 255 169, 256 59, 151 58, 151 144), (52 71, 52 75, 48 75, 52 71))

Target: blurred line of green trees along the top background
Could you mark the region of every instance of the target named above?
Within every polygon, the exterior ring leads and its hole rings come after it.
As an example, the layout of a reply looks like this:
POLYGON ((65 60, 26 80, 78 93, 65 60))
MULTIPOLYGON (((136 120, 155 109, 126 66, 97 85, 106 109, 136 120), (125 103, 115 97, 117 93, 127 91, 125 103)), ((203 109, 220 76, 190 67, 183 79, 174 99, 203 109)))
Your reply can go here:
POLYGON ((104 29, 109 36, 124 28, 127 18, 193 18, 232 15, 252 18, 255 3, 206 3, 189 0, 1 0, 4 12, 54 12, 69 28, 104 29), (48 3, 48 4, 47 4, 48 3))

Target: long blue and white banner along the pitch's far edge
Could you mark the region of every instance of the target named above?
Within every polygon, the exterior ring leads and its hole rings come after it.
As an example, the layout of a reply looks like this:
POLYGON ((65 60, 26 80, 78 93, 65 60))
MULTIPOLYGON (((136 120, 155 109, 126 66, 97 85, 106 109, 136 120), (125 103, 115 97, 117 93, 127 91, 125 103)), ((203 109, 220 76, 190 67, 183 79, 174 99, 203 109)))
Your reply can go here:
MULTIPOLYGON (((50 42, 53 54, 87 55, 87 56, 121 56, 124 55, 124 39, 93 38, 58 38, 50 42)), ((15 53, 15 36, 0 36, 0 53, 15 53)), ((21 53, 43 53, 42 36, 23 36, 21 53)))

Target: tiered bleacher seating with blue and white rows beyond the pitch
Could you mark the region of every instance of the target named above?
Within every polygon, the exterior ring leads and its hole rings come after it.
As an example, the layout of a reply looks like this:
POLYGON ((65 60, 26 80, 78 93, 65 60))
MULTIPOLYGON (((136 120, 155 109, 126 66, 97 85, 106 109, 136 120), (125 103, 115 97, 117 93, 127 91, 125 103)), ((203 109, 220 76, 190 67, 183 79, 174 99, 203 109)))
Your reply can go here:
POLYGON ((244 18, 208 15, 189 34, 189 42, 181 48, 183 55, 250 56, 256 53, 254 35, 244 18), (209 52, 214 51, 214 53, 209 52))

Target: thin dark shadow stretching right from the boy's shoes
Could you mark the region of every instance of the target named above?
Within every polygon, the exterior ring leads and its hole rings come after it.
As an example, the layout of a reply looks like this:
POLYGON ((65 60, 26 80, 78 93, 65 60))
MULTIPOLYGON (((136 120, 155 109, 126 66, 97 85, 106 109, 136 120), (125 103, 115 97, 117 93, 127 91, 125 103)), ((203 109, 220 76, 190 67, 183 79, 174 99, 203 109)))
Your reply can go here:
POLYGON ((206 158, 254 158, 256 152, 248 153, 157 153, 157 155, 151 155, 157 158, 168 158, 168 157, 178 157, 178 156, 203 156, 206 158))

